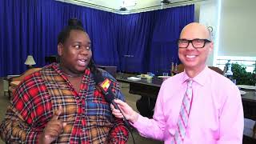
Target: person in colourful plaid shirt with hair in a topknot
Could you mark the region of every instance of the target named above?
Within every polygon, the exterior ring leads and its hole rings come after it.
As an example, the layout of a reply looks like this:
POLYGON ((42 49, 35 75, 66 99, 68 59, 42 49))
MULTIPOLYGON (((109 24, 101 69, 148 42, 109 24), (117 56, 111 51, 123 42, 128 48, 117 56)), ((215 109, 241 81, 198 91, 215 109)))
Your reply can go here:
POLYGON ((95 73, 113 83, 116 98, 124 100, 118 82, 91 60, 90 38, 70 23, 58 36, 61 62, 30 74, 14 92, 0 125, 6 142, 126 143, 129 133, 114 118, 110 104, 94 82, 95 73))

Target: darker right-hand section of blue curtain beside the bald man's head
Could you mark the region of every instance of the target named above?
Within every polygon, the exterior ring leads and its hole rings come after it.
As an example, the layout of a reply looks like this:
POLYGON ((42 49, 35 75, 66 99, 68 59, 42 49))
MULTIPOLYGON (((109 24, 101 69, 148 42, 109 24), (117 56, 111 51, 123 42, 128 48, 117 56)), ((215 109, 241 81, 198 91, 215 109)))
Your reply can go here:
POLYGON ((177 40, 182 28, 194 21, 194 6, 158 10, 156 14, 153 38, 150 41, 149 70, 157 74, 170 73, 171 62, 180 63, 177 40))

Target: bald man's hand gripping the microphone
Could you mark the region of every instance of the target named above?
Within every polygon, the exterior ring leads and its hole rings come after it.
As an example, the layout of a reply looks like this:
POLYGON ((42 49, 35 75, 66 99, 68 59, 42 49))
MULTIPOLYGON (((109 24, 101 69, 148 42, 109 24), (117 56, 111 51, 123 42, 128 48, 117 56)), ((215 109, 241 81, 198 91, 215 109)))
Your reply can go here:
POLYGON ((123 118, 122 114, 124 114, 124 116, 128 121, 133 123, 137 122, 138 113, 134 111, 126 102, 122 102, 119 99, 114 99, 114 102, 117 103, 119 109, 122 110, 122 113, 121 113, 121 111, 118 109, 115 109, 112 104, 110 105, 112 114, 114 114, 116 118, 123 118))

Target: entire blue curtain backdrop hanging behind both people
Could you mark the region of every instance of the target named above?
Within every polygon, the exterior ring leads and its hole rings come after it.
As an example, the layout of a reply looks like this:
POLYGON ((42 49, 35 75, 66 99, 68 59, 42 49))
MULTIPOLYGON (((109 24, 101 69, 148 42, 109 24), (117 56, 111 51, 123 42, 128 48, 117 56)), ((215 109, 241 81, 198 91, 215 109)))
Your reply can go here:
POLYGON ((161 74, 178 62, 176 40, 194 21, 194 5, 139 14, 113 14, 54 0, 0 1, 0 77, 26 70, 27 55, 36 66, 57 54, 58 33, 69 18, 78 18, 90 35, 98 65, 118 70, 161 74))

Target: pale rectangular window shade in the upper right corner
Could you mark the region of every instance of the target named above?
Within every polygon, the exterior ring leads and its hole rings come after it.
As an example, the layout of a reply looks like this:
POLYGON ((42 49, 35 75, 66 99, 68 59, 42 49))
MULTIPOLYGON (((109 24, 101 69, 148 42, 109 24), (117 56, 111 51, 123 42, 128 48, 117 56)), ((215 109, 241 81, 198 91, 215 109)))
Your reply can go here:
POLYGON ((255 0, 222 0, 218 55, 256 57, 255 6, 255 0))

